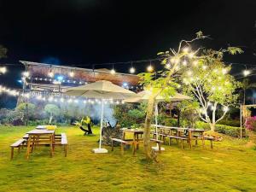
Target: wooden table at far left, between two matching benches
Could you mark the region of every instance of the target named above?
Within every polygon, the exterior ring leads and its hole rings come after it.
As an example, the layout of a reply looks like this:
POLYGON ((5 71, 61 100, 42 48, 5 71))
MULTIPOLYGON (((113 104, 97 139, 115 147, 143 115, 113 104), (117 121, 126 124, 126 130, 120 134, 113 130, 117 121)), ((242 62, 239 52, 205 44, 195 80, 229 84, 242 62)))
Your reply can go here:
POLYGON ((44 140, 44 142, 49 143, 50 156, 52 157, 54 153, 54 143, 55 143, 55 130, 32 130, 26 132, 27 138, 27 149, 26 149, 26 159, 29 158, 29 154, 32 152, 33 148, 38 144, 40 137, 48 137, 49 140, 44 140))

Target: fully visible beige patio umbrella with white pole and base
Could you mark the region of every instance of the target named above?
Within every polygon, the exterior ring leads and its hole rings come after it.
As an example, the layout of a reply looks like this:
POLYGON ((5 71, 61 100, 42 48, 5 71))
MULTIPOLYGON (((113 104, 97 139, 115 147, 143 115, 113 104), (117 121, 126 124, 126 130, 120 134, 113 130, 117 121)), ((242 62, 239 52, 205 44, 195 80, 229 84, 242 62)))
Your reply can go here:
POLYGON ((67 96, 84 96, 102 100, 101 131, 99 148, 93 148, 94 153, 108 153, 106 148, 102 148, 102 125, 104 113, 104 99, 125 99, 130 96, 136 96, 131 90, 126 90, 109 81, 101 80, 95 83, 85 84, 79 87, 68 88, 65 93, 67 96))

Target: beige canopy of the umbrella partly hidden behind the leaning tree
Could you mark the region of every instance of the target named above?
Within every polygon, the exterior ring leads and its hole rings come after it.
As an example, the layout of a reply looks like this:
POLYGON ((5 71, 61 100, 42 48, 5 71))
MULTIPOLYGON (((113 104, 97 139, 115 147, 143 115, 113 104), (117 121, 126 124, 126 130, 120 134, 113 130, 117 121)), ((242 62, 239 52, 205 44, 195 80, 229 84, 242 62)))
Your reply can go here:
MULTIPOLYGON (((125 99, 125 102, 144 102, 148 101, 149 96, 151 95, 150 90, 143 90, 139 93, 137 93, 137 96, 131 96, 128 99, 125 99)), ((183 100, 191 100, 192 98, 190 96, 184 96, 182 94, 176 93, 174 96, 170 96, 171 102, 180 102, 183 100)), ((156 97, 157 102, 165 102, 165 98, 163 96, 157 96, 156 97)))

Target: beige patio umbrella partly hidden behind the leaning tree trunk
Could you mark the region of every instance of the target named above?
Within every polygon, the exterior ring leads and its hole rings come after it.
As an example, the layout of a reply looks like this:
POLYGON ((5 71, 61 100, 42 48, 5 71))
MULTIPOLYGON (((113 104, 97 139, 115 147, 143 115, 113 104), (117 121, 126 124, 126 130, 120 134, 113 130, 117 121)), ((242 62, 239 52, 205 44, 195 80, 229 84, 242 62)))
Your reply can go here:
MULTIPOLYGON (((125 99, 125 102, 145 102, 148 101, 149 96, 151 95, 150 90, 143 90, 139 93, 137 93, 137 96, 131 96, 128 99, 125 99)), ((170 96, 169 101, 170 102, 181 102, 183 100, 190 100, 192 99, 190 96, 184 96, 182 94, 176 93, 174 96, 170 96)), ((155 122, 155 132, 156 132, 156 138, 158 138, 158 103, 159 102, 165 102, 166 99, 163 96, 157 96, 156 97, 156 102, 154 105, 154 122, 155 122)), ((158 144, 156 147, 152 147, 154 150, 159 150, 158 144)), ((160 150, 165 150, 165 148, 160 148, 160 150)))

